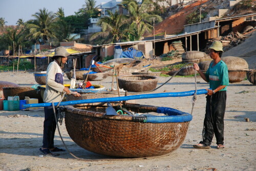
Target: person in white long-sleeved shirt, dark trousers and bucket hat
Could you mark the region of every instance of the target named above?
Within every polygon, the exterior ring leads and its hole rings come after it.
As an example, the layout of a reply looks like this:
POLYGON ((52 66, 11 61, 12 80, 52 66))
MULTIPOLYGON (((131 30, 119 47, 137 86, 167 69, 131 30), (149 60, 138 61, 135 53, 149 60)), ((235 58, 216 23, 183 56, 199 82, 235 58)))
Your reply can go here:
MULTIPOLYGON (((55 48, 55 54, 52 57, 53 61, 47 67, 46 72, 46 90, 44 93, 45 103, 59 102, 61 100, 62 93, 71 93, 69 88, 63 85, 64 77, 62 75, 62 68, 68 60, 68 56, 70 56, 70 54, 67 52, 65 47, 60 46, 55 48)), ((75 96, 80 96, 80 94, 75 92, 75 96)), ((55 112, 57 115, 57 108, 55 108, 55 112)), ((45 155, 52 155, 52 152, 65 151, 54 146, 53 140, 55 130, 56 121, 53 107, 45 107, 44 137, 42 139, 42 147, 39 149, 45 155)))

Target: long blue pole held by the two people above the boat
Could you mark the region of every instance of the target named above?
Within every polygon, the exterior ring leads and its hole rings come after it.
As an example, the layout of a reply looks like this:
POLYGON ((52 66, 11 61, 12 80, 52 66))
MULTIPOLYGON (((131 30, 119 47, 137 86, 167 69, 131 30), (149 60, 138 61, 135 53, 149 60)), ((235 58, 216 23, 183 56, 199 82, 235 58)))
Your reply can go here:
MULTIPOLYGON (((205 89, 197 90, 197 94, 206 94, 206 93, 207 93, 207 90, 205 89)), ((108 98, 100 98, 100 99, 86 99, 86 100, 78 100, 78 101, 61 102, 59 106, 77 105, 77 104, 84 104, 84 103, 129 101, 129 100, 135 100, 135 99, 152 99, 152 98, 160 98, 160 97, 182 97, 182 96, 189 96, 194 94, 195 94, 195 90, 183 91, 183 92, 139 94, 139 95, 129 95, 129 96, 121 96, 121 97, 108 97, 108 98)), ((54 103, 54 106, 57 106, 57 104, 58 102, 54 103)), ((37 104, 23 105, 24 108, 46 107, 46 106, 52 106, 52 103, 37 103, 37 104)))

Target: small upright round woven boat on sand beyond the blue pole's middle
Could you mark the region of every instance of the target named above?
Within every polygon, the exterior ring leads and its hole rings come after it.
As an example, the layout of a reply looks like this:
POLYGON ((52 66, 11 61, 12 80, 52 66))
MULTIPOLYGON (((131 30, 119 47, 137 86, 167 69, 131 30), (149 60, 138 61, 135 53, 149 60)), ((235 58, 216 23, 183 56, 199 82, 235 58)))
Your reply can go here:
POLYGON ((119 88, 131 92, 150 91, 157 87, 158 77, 131 75, 118 77, 119 88))

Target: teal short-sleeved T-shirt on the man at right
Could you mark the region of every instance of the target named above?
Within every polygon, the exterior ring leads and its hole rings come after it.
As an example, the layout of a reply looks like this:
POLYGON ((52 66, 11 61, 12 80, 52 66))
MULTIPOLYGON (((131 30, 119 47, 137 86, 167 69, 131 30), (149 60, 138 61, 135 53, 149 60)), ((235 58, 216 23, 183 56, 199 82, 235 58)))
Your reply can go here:
POLYGON ((220 90, 226 91, 229 85, 227 65, 222 60, 215 66, 212 66, 212 64, 214 64, 214 62, 210 63, 205 74, 207 81, 210 83, 210 88, 214 90, 220 85, 226 85, 225 88, 220 90))

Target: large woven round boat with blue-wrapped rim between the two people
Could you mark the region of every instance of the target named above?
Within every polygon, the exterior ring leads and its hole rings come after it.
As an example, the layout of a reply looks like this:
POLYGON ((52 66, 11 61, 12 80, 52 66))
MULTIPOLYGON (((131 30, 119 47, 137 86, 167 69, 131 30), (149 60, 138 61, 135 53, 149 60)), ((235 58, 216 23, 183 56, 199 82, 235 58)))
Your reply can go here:
MULTIPOLYGON (((119 109, 114 103, 112 106, 119 109)), ((184 141, 192 119, 191 114, 173 108, 139 104, 126 104, 124 108, 140 115, 108 115, 106 106, 65 106, 61 110, 65 111, 69 136, 79 146, 97 154, 125 158, 173 152, 184 141)))

